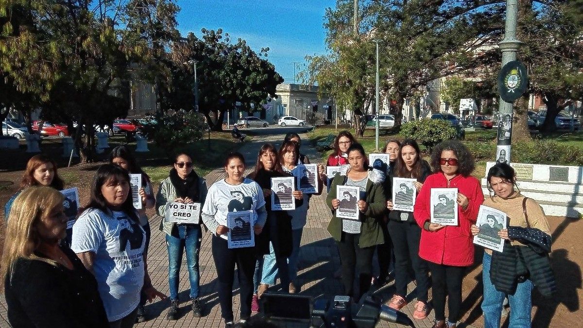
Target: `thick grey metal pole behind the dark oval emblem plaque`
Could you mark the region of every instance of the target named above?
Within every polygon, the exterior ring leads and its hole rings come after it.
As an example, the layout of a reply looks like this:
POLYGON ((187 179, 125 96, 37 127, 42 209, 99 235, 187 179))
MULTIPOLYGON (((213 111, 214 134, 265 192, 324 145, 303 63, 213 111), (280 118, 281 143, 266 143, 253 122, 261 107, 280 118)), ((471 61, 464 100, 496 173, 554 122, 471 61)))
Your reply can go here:
MULTIPOLYGON (((518 16, 518 0, 506 0, 506 26, 504 32, 504 39, 498 43, 500 51, 502 51, 502 67, 508 62, 516 60, 516 53, 521 45, 521 41, 516 38, 516 22, 518 16)), ((499 114, 510 114, 514 112, 514 106, 512 103, 505 102, 501 97, 499 99, 498 113, 499 114)), ((499 116, 500 117, 500 116, 499 116)), ((512 121, 512 120, 511 120, 512 121)), ((498 120, 498 124, 500 124, 498 120)), ((503 129, 498 128, 498 132, 503 132, 503 129)), ((510 163, 510 149, 512 145, 512 134, 508 138, 507 142, 500 144, 500 135, 498 135, 498 145, 496 149, 496 158, 500 154, 500 151, 504 149, 506 153, 506 160, 510 163)))

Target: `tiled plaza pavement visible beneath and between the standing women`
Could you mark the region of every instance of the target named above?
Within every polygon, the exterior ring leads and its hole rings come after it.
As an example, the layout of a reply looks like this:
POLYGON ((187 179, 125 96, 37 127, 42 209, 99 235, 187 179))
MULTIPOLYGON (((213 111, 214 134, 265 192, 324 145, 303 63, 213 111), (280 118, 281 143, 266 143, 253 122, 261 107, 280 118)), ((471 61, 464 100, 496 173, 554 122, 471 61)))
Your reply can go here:
MULTIPOLYGON (((304 137, 304 136, 303 136, 304 137)), ((265 142, 273 142, 277 147, 281 144, 283 135, 261 136, 248 142, 247 145, 241 148, 245 156, 245 161, 249 168, 255 165, 257 159, 257 152, 259 147, 265 142)), ((317 159, 319 155, 315 150, 308 149, 308 142, 303 142, 303 152, 310 159, 317 159)), ((312 162, 314 162, 312 160, 312 162)), ((215 170, 206 176, 209 186, 217 179, 224 176, 221 170, 215 170)), ((310 211, 308 212, 307 225, 304 228, 303 238, 301 240, 300 251, 300 271, 296 285, 301 287, 301 295, 309 296, 332 296, 342 294, 342 282, 333 278, 333 273, 339 268, 340 263, 338 259, 338 252, 333 240, 326 232, 331 213, 325 204, 325 192, 321 196, 312 197, 310 201, 310 211)), ((160 291, 168 294, 168 256, 166 245, 164 242, 163 232, 157 229, 160 224, 160 218, 153 216, 150 218, 150 225, 152 226, 152 241, 150 242, 148 264, 149 273, 152 278, 152 283, 160 291)), ((375 261, 376 262, 376 261, 375 261)), ((220 317, 220 307, 216 292, 216 271, 213 263, 212 254, 210 251, 210 235, 203 234, 200 250, 200 272, 201 272, 201 296, 205 304, 203 317, 195 318, 189 313, 189 293, 188 293, 188 270, 186 268, 186 261, 182 262, 180 271, 180 319, 176 321, 166 320, 167 308, 170 305, 169 301, 156 301, 152 304, 146 305, 148 320, 143 323, 136 324, 135 327, 223 327, 223 322, 220 317)), ((409 285, 409 292, 412 292, 415 285, 409 285)), ((238 320, 239 297, 238 284, 234 285, 233 309, 238 320)), ((388 299, 392 295, 394 287, 392 282, 385 288, 378 291, 383 299, 388 299)), ((64 309, 65 310, 65 309, 64 309)), ((412 316, 413 302, 409 303, 403 308, 409 317, 412 316)), ((433 312, 425 320, 415 320, 416 327, 431 327, 433 323, 433 312)), ((294 325, 296 326, 296 325, 294 325)), ((0 327, 9 327, 6 317, 6 303, 4 298, 0 298, 0 327)), ((377 327, 403 327, 399 324, 380 322, 377 327)))

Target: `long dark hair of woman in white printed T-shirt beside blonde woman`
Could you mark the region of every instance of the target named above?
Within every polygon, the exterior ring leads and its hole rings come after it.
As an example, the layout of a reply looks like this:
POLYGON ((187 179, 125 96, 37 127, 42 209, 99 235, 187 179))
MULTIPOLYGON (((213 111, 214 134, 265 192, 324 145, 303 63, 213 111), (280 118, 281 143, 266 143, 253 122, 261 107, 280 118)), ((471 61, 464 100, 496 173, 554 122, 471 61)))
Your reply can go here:
MULTIPOLYGON (((93 182, 91 184, 91 198, 87 208, 96 208, 103 212, 110 212, 111 209, 107 205, 103 194, 101 194, 101 187, 108 181, 117 183, 127 183, 129 186, 129 175, 128 171, 120 168, 120 166, 114 164, 104 164, 101 165, 95 172, 93 176, 93 182)), ((131 191, 128 192, 128 198, 125 199, 124 204, 121 205, 121 211, 128 215, 129 218, 133 219, 135 222, 138 221, 138 215, 136 215, 136 209, 134 208, 134 201, 132 200, 131 191)))

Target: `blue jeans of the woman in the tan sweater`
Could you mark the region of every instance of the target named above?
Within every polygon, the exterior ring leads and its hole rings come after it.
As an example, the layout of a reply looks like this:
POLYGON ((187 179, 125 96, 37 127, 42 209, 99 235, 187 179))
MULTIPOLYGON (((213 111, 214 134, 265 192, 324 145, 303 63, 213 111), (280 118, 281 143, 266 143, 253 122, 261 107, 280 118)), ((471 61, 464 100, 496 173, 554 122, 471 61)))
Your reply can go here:
MULTIPOLYGON (((502 316, 502 304, 506 294, 497 291, 490 281, 490 264, 492 256, 484 252, 483 282, 484 297, 482 300, 482 311, 484 312, 484 328, 500 327, 502 316)), ((508 328, 530 328, 531 327, 531 301, 532 281, 520 282, 514 295, 508 295, 510 303, 510 324, 508 328)))

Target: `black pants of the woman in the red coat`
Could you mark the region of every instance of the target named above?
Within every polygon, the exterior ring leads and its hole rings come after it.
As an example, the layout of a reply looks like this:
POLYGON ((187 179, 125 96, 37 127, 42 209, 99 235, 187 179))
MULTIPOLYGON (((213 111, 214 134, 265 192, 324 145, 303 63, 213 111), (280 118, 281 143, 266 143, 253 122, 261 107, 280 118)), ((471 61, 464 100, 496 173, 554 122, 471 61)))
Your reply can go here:
POLYGON ((445 266, 427 262, 431 270, 431 291, 433 292, 433 308, 436 320, 445 320, 445 295, 449 296, 449 322, 459 320, 459 308, 462 306, 462 279, 466 267, 445 266))

